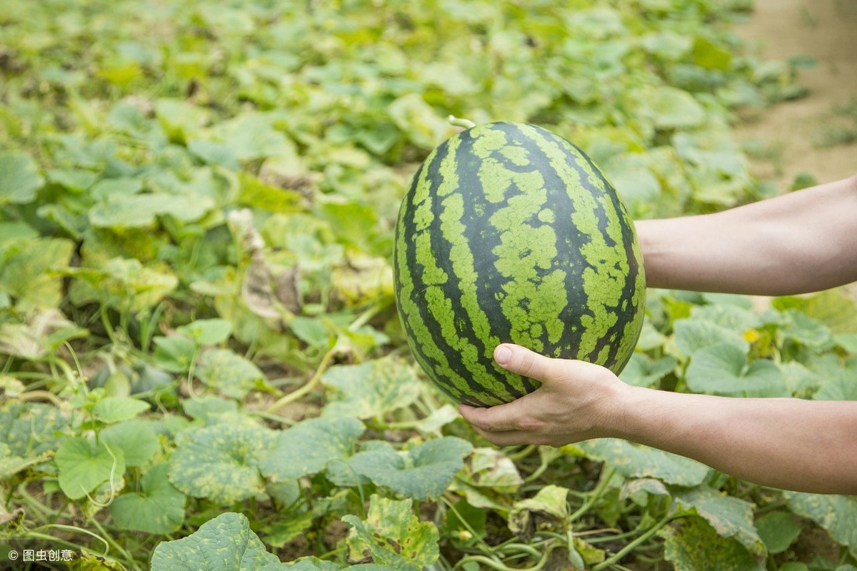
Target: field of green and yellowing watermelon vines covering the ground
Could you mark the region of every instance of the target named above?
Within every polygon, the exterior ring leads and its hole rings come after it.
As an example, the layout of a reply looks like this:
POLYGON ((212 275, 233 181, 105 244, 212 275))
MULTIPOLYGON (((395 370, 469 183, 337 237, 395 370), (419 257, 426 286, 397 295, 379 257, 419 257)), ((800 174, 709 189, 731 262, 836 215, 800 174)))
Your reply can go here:
MULTIPOLYGON (((751 12, 4 2, 0 568, 857 571, 855 497, 619 439, 493 446, 394 300, 450 115, 572 141, 635 219, 813 184, 754 175, 734 134, 812 65, 760 57, 751 12)), ((650 288, 642 327, 628 384, 857 400, 853 294, 650 288)))

